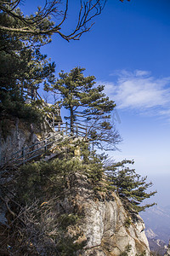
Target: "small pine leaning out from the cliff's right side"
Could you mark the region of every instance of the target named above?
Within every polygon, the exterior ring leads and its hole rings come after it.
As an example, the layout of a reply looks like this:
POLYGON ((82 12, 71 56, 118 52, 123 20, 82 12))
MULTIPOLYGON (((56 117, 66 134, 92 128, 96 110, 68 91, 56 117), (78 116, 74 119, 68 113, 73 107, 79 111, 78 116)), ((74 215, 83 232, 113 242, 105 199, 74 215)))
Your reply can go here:
POLYGON ((152 207, 155 203, 140 205, 144 199, 155 195, 156 191, 148 192, 152 183, 147 183, 147 177, 141 177, 134 169, 129 169, 126 164, 133 164, 131 160, 123 160, 105 167, 108 180, 117 195, 122 199, 124 207, 129 212, 141 212, 147 207, 152 207))

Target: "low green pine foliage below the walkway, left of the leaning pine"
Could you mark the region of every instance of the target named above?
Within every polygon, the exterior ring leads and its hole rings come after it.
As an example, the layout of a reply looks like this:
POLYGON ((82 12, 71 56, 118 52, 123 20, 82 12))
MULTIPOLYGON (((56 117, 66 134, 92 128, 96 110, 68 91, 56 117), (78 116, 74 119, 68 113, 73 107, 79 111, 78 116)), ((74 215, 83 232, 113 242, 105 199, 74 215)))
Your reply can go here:
POLYGON ((37 161, 21 166, 18 177, 20 200, 25 204, 35 199, 47 200, 54 195, 65 196, 62 192, 66 177, 71 173, 87 175, 95 187, 104 172, 102 160, 103 156, 97 154, 88 154, 88 160, 82 156, 80 160, 70 152, 49 162, 37 161))

